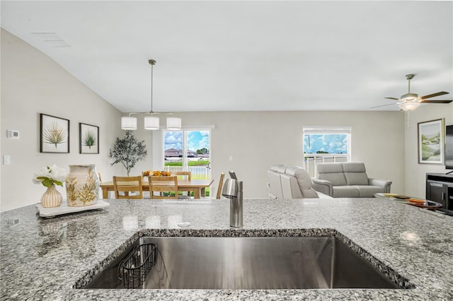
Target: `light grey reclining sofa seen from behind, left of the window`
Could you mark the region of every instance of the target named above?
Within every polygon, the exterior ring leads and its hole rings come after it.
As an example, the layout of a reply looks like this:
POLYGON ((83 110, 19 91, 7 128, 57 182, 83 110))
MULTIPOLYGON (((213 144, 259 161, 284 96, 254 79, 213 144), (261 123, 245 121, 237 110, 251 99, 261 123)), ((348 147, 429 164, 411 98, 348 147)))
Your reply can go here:
POLYGON ((302 167, 273 165, 268 170, 270 199, 331 199, 314 191, 312 186, 308 172, 302 167))

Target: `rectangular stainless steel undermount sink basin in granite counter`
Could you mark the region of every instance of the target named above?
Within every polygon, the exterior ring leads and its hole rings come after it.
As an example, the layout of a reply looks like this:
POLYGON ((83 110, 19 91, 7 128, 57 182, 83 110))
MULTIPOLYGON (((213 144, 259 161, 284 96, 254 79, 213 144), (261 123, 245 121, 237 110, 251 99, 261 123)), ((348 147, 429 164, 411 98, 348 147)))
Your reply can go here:
MULTIPOLYGON (((142 237, 137 241, 149 243, 156 245, 155 265, 139 288, 399 288, 336 237, 142 237)), ((131 250, 85 288, 125 288, 119 265, 131 250)))

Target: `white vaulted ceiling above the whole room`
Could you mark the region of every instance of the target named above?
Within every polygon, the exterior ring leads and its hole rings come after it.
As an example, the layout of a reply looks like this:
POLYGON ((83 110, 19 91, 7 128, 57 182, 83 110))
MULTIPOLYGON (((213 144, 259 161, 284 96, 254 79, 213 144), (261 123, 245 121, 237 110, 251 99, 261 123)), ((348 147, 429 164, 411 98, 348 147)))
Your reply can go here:
POLYGON ((369 107, 408 73, 453 93, 452 1, 1 1, 1 27, 121 112, 151 109, 149 59, 156 112, 398 110, 369 107))

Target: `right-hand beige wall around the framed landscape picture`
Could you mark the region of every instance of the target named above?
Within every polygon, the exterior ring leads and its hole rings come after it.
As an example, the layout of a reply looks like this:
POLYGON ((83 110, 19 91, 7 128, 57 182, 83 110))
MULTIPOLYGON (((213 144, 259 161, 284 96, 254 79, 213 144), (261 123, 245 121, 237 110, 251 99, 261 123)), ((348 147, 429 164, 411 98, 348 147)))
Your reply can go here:
POLYGON ((426 173, 447 173, 451 170, 446 170, 445 165, 440 164, 418 164, 418 122, 428 122, 443 118, 445 125, 453 124, 453 102, 444 105, 422 104, 416 110, 406 112, 405 114, 405 191, 410 196, 425 198, 426 173))

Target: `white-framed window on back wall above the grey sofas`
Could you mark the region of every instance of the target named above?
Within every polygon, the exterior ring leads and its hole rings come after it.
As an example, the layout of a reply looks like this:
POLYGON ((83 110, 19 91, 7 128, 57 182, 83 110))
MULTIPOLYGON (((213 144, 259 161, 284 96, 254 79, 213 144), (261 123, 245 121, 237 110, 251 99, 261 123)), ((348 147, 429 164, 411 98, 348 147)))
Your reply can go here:
POLYGON ((304 127, 304 168, 314 170, 320 162, 348 162, 351 154, 350 127, 304 127))

